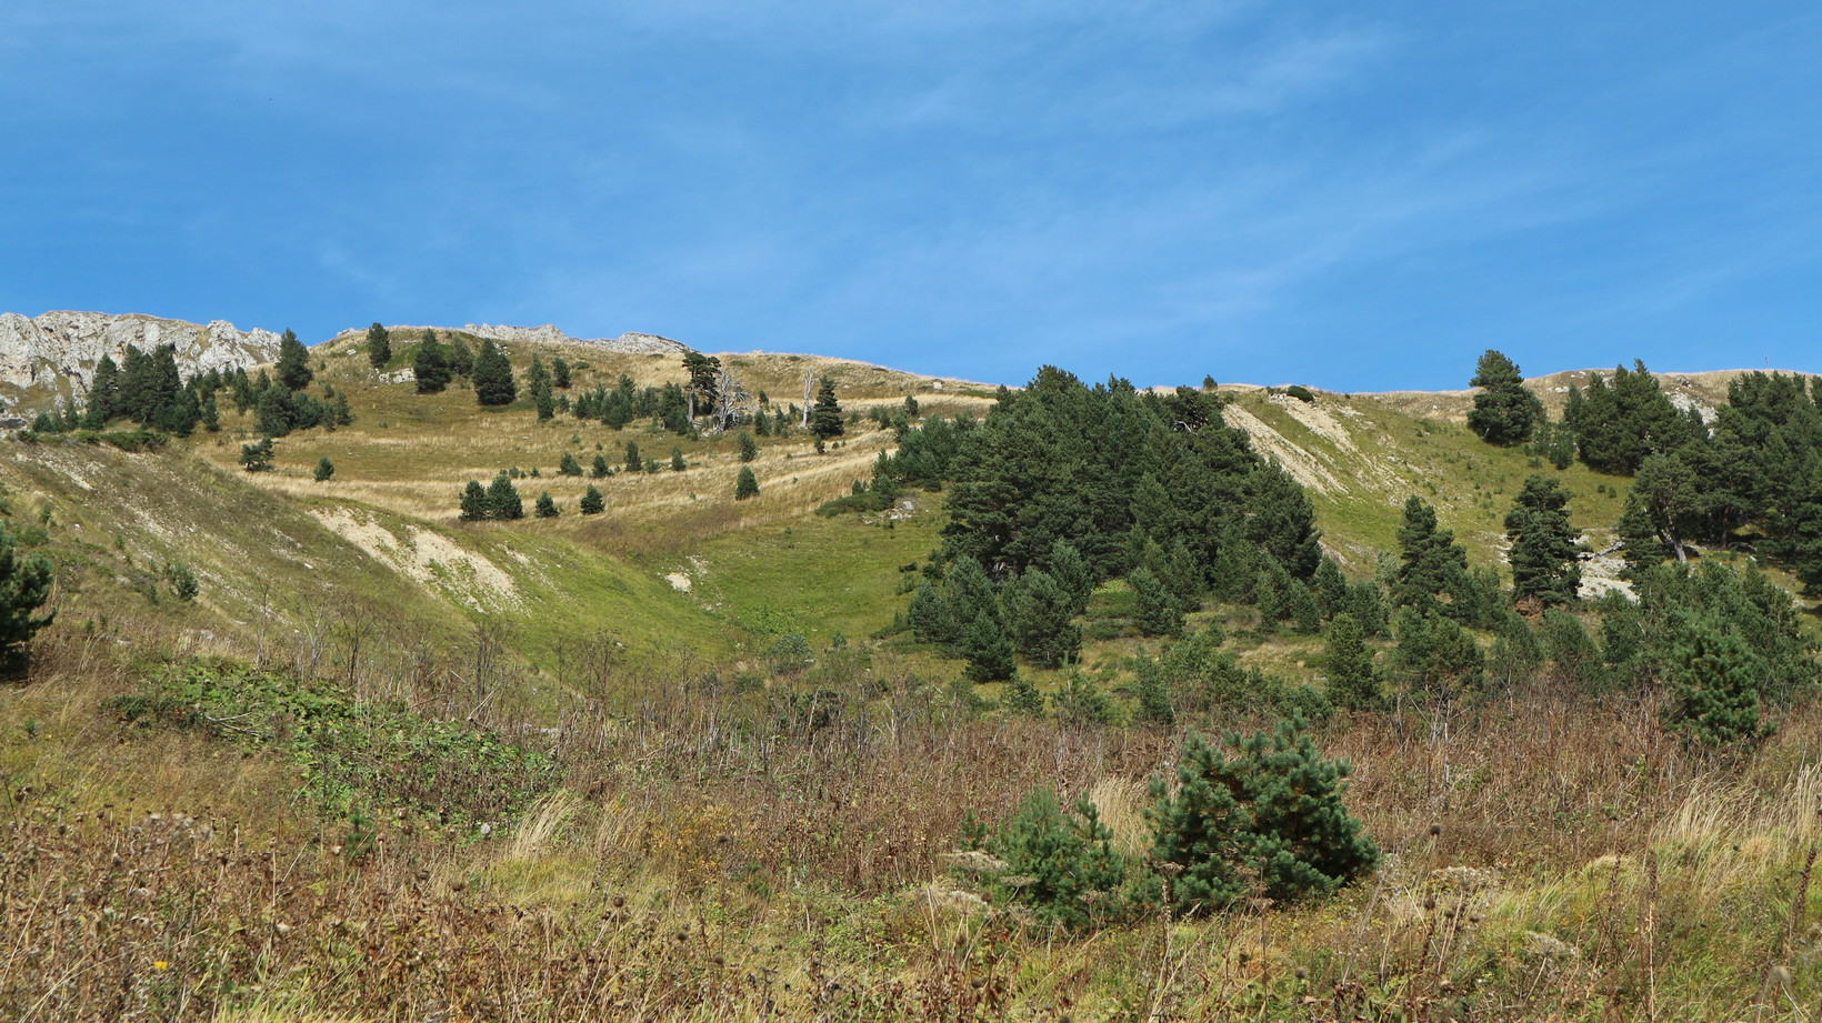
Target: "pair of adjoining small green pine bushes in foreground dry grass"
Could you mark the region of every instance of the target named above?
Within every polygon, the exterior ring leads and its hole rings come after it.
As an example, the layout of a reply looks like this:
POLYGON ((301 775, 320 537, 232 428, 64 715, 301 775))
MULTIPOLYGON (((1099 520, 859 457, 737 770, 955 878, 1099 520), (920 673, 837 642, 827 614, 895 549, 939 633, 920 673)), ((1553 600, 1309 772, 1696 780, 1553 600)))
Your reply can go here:
POLYGON ((1228 752, 1192 734, 1173 783, 1152 779, 1144 856, 1117 846, 1088 797, 1064 808, 1039 788, 993 832, 966 821, 958 863, 993 901, 1064 928, 1162 905, 1206 914, 1315 899, 1379 861, 1343 801, 1346 775, 1348 765, 1323 759, 1295 717, 1230 734, 1228 752))

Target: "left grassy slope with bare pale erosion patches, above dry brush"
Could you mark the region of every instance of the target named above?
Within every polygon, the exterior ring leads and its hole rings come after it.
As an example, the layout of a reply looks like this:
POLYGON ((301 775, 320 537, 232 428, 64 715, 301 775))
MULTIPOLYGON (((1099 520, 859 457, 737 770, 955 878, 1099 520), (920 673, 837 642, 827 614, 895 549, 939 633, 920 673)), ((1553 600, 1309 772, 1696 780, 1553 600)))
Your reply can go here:
POLYGON ((355 635, 368 657, 446 666, 485 628, 523 659, 537 692, 567 684, 581 643, 641 661, 681 637, 731 644, 663 581, 534 522, 446 528, 332 490, 275 493, 180 444, 5 444, 13 521, 33 522, 24 539, 58 564, 53 603, 69 621, 142 623, 193 650, 302 657, 321 670, 355 635), (193 601, 175 595, 179 566, 197 581, 193 601))

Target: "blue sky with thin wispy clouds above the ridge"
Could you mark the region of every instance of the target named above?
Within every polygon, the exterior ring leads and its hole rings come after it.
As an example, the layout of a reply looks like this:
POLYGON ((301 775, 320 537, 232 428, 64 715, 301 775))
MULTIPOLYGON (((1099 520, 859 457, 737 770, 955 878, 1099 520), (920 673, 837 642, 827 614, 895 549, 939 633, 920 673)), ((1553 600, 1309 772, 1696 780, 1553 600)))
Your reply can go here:
POLYGON ((1822 371, 1822 5, 7 0, 0 309, 1822 371))

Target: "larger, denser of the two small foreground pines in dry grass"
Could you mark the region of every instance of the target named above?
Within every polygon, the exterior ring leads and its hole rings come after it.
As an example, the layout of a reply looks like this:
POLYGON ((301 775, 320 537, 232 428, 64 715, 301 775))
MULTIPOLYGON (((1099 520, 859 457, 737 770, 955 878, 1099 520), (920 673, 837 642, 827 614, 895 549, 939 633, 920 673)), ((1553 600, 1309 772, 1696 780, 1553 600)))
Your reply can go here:
POLYGON ((1192 734, 1175 792, 1152 779, 1152 856, 1177 868, 1181 912, 1223 910, 1254 886, 1279 903, 1319 897, 1377 865, 1343 801, 1346 761, 1323 759, 1299 719, 1228 743, 1232 757, 1192 734))

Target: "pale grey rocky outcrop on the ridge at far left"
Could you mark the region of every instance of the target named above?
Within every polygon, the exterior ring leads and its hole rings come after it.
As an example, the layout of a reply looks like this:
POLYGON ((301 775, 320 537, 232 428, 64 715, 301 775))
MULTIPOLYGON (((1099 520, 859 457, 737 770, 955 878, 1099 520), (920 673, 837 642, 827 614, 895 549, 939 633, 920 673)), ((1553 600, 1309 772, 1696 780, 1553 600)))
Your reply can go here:
POLYGON ((189 324, 159 317, 107 313, 0 313, 0 397, 7 408, 47 408, 80 399, 102 355, 115 362, 126 346, 149 351, 169 344, 184 375, 257 366, 279 357, 279 335, 242 331, 228 320, 189 324))

